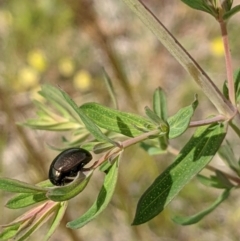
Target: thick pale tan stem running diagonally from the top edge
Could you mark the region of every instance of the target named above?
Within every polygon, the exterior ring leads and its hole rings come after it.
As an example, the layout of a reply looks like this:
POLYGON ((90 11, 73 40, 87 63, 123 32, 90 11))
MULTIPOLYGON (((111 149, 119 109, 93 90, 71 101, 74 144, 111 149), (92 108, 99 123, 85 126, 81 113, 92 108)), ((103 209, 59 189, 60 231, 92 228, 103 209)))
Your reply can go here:
POLYGON ((193 77, 205 95, 217 108, 220 114, 231 118, 235 107, 222 95, 209 76, 189 55, 183 46, 172 36, 167 28, 139 0, 123 0, 142 22, 156 35, 184 69, 193 77))

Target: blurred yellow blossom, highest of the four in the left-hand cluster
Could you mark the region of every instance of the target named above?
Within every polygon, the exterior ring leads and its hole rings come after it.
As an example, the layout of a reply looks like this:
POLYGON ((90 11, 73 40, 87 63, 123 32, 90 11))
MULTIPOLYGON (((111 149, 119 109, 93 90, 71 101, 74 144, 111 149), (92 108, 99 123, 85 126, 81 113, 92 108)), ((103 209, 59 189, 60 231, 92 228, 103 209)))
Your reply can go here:
POLYGON ((36 69, 38 72, 43 72, 47 67, 47 61, 44 56, 44 53, 35 49, 28 53, 27 60, 30 66, 36 69))

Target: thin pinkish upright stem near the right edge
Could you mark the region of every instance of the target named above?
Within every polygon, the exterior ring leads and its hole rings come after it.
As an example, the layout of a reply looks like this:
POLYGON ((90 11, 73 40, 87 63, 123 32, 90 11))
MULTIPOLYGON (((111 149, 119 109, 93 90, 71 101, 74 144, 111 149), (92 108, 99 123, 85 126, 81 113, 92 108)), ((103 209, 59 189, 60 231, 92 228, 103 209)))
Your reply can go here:
POLYGON ((228 33, 227 33, 227 23, 223 20, 219 20, 220 29, 222 33, 222 40, 225 52, 225 63, 226 63, 226 72, 227 72, 227 82, 228 82, 228 95, 229 99, 233 105, 235 102, 235 89, 234 89, 234 80, 233 80, 233 67, 232 67, 232 58, 229 47, 228 33))

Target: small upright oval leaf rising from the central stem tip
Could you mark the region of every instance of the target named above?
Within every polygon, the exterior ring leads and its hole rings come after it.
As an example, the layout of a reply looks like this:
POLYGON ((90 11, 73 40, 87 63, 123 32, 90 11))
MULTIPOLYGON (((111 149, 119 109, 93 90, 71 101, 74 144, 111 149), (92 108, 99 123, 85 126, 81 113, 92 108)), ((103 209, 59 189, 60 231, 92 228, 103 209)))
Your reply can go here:
POLYGON ((167 98, 162 88, 157 88, 153 94, 153 111, 160 119, 167 121, 167 98))

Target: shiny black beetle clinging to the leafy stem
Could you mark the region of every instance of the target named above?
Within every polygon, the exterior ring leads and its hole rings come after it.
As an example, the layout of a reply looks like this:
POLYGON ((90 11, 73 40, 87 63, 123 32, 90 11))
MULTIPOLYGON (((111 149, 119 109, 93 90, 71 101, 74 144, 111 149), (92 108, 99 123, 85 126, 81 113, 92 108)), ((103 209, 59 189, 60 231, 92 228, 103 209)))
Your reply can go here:
POLYGON ((85 149, 70 148, 64 150, 52 161, 49 169, 49 180, 56 186, 68 184, 91 160, 92 155, 85 149))

